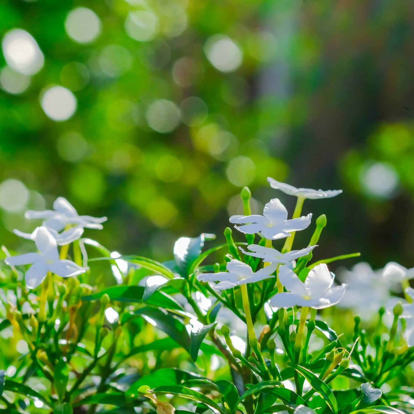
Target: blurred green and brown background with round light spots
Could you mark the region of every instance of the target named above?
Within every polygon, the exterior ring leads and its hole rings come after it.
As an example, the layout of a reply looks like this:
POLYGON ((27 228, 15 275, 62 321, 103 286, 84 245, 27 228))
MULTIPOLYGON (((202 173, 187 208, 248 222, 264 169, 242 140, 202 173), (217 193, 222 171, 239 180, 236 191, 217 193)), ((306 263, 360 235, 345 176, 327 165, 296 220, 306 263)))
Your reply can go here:
POLYGON ((166 260, 222 238, 243 185, 293 211, 272 176, 344 190, 305 203, 315 258, 412 267, 413 26, 386 0, 1 2, 0 243, 62 195, 108 216, 86 236, 166 260))

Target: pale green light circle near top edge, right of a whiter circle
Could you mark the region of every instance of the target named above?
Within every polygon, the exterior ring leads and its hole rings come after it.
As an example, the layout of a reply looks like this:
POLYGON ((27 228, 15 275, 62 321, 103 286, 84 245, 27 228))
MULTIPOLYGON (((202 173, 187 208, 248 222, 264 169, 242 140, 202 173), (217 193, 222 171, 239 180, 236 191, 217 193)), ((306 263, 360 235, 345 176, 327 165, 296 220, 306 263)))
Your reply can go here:
POLYGON ((146 10, 130 12, 125 20, 125 30, 128 36, 140 42, 154 39, 158 33, 158 26, 158 17, 146 10))

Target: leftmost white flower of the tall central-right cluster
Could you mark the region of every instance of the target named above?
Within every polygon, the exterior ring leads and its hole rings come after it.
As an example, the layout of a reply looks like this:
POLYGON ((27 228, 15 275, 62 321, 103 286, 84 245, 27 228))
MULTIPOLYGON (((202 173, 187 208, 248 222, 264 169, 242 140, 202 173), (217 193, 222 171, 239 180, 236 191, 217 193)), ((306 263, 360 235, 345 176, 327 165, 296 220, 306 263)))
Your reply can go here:
POLYGON ((214 289, 231 289, 234 286, 260 282, 263 279, 274 277, 272 273, 276 270, 276 267, 277 265, 274 263, 257 272, 253 272, 252 268, 249 265, 246 265, 246 263, 233 259, 226 265, 228 272, 202 273, 197 276, 197 279, 202 282, 219 281, 220 283, 214 286, 214 289))

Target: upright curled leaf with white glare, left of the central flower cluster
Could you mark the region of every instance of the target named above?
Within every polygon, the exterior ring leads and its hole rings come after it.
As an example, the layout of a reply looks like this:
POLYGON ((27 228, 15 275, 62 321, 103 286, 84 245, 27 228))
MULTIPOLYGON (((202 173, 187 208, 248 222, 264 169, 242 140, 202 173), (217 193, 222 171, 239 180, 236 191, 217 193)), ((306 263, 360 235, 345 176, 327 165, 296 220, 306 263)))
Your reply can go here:
POLYGON ((174 258, 182 276, 188 276, 192 263, 200 256, 206 240, 214 240, 215 234, 201 233, 198 237, 181 237, 174 244, 174 258))

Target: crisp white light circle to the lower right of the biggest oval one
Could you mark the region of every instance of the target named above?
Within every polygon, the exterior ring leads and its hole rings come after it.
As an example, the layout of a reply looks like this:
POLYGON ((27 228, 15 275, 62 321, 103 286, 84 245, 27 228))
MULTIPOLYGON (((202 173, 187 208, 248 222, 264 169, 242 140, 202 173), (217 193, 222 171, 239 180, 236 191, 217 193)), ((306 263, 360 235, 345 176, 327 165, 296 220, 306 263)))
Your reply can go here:
POLYGON ((65 121, 76 111, 75 95, 63 86, 52 86, 41 95, 40 104, 46 115, 54 121, 65 121))

